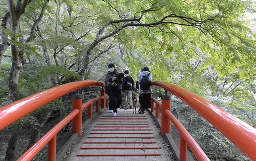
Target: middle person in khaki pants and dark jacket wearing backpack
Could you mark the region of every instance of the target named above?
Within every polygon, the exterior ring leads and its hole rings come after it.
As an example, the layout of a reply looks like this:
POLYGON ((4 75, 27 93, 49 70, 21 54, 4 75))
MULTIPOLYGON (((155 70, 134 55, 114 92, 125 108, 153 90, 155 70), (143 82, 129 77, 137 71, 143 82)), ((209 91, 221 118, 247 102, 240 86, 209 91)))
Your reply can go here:
POLYGON ((134 80, 130 77, 129 71, 124 71, 125 78, 123 79, 122 91, 124 93, 124 110, 132 108, 132 90, 134 89, 134 80))

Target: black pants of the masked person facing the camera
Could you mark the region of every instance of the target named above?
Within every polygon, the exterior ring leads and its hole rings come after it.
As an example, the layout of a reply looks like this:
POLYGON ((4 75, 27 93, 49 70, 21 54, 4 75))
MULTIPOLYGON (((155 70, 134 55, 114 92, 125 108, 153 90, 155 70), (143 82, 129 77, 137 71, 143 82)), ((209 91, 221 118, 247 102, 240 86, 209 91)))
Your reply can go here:
POLYGON ((120 90, 110 90, 108 93, 109 97, 109 109, 117 112, 117 108, 122 103, 122 94, 120 90))

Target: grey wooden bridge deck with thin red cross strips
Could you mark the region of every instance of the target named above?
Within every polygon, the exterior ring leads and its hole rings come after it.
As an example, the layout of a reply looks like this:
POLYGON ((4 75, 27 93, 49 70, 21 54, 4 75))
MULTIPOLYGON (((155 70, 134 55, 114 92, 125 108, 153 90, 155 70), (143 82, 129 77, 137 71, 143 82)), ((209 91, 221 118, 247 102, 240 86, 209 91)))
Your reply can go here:
MULTIPOLYGON (((80 157, 79 161, 167 161, 164 149, 161 147, 160 140, 162 138, 152 138, 157 136, 158 132, 152 126, 154 121, 151 116, 147 114, 133 114, 133 110, 119 110, 118 117, 112 117, 108 111, 104 111, 104 117, 98 118, 80 143, 80 148, 75 154, 93 154, 93 155, 131 155, 131 156, 85 156, 80 157), (106 117, 105 117, 106 116, 106 117), (135 116, 135 117, 134 117, 135 116), (108 117, 108 118, 107 118, 108 117), (109 119, 111 122, 102 123, 109 119), (118 118, 118 119, 116 119, 118 118), (122 118, 122 119, 120 119, 122 118), (125 119, 124 119, 125 118, 125 119), (139 118, 136 120, 136 118, 139 118), (140 119, 143 118, 143 119, 140 119), (101 119, 101 120, 100 120, 101 119), (124 121, 126 120, 126 121, 124 121), (121 121, 121 122, 120 122, 121 121), (146 125, 143 122, 148 122, 146 125), (143 124, 142 124, 143 123, 143 124), (100 132, 102 131, 102 132, 100 132), (149 131, 150 133, 148 133, 149 131), (154 134, 153 134, 154 133, 154 134), (118 142, 118 143, 117 143, 118 142), (123 143, 122 143, 123 142, 123 143), (127 143, 130 142, 130 143, 127 143), (136 142, 136 143, 134 143, 136 142), (150 143, 146 143, 150 142, 150 143), (156 143, 151 143, 156 142, 156 143), (90 147, 81 149, 81 147, 90 147), (94 147, 99 147, 95 149, 94 147), (122 149, 106 149, 106 147, 122 147, 122 149), (137 149, 124 149, 124 147, 139 147, 137 149), (161 147, 162 149, 142 149, 143 147, 161 147), (83 151, 82 151, 83 150, 83 151), (148 155, 148 156, 135 156, 148 155), (150 156, 158 155, 160 156, 150 156)), ((79 158, 79 157, 76 157, 79 158)), ((169 157, 170 158, 170 157, 169 157)), ((170 159, 169 159, 170 160, 170 159)), ((75 161, 75 160, 72 160, 75 161)))

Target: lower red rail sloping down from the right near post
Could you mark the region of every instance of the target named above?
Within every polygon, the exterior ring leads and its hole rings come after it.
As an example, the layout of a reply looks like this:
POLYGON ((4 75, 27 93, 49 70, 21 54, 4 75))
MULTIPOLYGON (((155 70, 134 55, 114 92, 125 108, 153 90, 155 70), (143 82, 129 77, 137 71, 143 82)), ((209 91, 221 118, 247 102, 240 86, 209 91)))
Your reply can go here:
MULTIPOLYGON (((180 137, 182 137, 186 141, 191 151, 196 156, 196 159, 198 159, 198 161, 210 161, 210 159, 207 157, 207 155, 204 153, 204 151, 201 149, 198 143, 196 143, 194 138, 188 133, 188 131, 182 126, 182 124, 175 118, 175 116, 170 112, 170 110, 165 110, 165 113, 167 117, 171 120, 172 124, 180 132, 180 137)), ((185 152, 185 154, 186 153, 187 152, 185 152)))

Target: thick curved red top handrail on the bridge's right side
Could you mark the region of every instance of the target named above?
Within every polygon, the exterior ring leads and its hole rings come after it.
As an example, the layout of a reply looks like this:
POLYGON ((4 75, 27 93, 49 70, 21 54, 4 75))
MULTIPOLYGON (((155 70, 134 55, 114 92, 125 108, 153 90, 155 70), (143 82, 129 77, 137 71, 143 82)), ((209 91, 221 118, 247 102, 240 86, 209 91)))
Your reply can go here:
POLYGON ((151 82, 151 85, 160 86, 183 100, 232 141, 250 159, 256 161, 255 128, 184 88, 160 81, 151 82))

